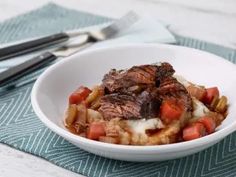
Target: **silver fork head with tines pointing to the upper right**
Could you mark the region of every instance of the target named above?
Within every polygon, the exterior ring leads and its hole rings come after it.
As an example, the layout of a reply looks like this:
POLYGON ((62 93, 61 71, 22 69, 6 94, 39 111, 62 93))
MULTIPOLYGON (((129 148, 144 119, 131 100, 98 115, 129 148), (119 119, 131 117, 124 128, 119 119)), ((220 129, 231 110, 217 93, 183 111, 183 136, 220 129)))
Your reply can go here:
POLYGON ((116 33, 118 33, 119 31, 130 27, 135 22, 137 22, 138 19, 139 19, 139 16, 135 12, 130 11, 127 14, 125 14, 123 17, 121 17, 120 19, 114 21, 114 23, 112 23, 111 25, 103 28, 101 30, 101 33, 103 33, 105 38, 109 38, 115 35, 116 33))

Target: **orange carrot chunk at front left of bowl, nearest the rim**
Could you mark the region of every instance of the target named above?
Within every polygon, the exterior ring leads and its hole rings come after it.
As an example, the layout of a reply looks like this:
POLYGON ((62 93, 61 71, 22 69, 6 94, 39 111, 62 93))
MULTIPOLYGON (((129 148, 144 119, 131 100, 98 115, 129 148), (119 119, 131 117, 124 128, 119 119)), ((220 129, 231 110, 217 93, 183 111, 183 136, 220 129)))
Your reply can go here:
POLYGON ((92 140, 98 140, 100 136, 105 136, 105 124, 104 122, 92 122, 89 125, 87 131, 87 138, 92 140))

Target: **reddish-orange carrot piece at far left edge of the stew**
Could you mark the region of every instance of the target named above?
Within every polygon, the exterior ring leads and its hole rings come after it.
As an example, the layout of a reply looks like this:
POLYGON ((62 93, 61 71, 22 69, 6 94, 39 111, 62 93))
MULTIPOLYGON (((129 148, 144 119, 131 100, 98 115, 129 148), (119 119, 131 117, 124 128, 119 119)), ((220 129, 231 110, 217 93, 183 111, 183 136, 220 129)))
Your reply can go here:
POLYGON ((91 93, 91 90, 87 87, 80 86, 75 90, 69 97, 70 104, 79 104, 84 101, 87 96, 91 93))

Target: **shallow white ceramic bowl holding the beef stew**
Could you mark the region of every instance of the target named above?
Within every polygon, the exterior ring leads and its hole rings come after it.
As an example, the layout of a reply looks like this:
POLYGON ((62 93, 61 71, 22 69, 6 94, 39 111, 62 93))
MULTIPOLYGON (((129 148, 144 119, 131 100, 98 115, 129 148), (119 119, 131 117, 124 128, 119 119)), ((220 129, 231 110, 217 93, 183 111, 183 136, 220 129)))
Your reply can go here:
POLYGON ((63 59, 36 81, 31 100, 39 119, 52 131, 85 151, 126 161, 161 161, 201 151, 236 129, 236 67, 215 55, 186 47, 160 44, 129 44, 93 49, 63 59), (205 86, 218 86, 229 98, 229 114, 217 131, 193 141, 156 146, 114 145, 76 136, 63 126, 68 95, 78 86, 101 83, 111 68, 166 61, 177 74, 205 86))

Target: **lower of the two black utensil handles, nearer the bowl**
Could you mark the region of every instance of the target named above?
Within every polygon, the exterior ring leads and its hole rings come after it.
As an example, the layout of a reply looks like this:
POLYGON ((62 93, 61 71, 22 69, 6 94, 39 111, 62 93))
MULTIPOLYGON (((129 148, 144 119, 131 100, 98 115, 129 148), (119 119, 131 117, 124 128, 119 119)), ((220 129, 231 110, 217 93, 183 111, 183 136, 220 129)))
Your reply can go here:
POLYGON ((48 62, 55 60, 57 56, 50 52, 45 52, 37 57, 27 60, 19 65, 13 66, 0 73, 0 87, 19 79, 20 77, 35 71, 48 62))

